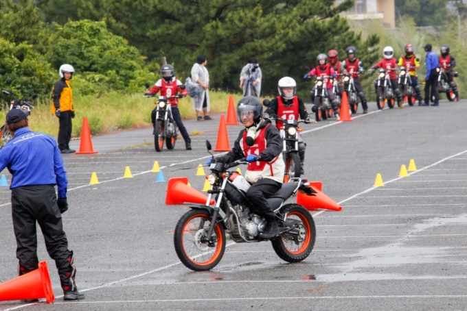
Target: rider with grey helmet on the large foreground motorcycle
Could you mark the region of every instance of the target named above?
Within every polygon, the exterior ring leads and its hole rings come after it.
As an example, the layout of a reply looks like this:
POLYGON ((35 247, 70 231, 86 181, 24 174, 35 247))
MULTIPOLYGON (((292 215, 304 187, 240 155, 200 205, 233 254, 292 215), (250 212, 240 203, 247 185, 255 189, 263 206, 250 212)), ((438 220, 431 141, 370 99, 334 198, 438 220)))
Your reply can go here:
POLYGON ((247 191, 250 206, 255 208, 251 212, 264 217, 267 222, 266 229, 260 236, 273 238, 280 231, 275 212, 269 207, 266 198, 274 195, 284 180, 282 138, 279 129, 271 126, 271 120, 262 118, 262 103, 258 97, 246 96, 240 99, 237 116, 244 129, 235 140, 232 151, 215 158, 215 161, 231 163, 246 158, 249 164, 244 177, 253 184, 247 191))

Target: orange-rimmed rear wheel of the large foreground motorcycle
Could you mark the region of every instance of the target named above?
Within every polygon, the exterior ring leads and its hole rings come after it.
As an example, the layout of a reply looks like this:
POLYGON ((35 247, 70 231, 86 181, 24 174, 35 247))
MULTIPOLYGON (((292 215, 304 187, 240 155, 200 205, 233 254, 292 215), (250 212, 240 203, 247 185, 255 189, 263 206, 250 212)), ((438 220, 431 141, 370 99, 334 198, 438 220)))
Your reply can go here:
MULTIPOLYGON (((286 204, 280 210, 297 228, 271 241, 277 256, 286 262, 301 262, 310 255, 316 240, 315 221, 303 206, 286 204)), ((280 225, 282 230, 283 224, 280 225)))

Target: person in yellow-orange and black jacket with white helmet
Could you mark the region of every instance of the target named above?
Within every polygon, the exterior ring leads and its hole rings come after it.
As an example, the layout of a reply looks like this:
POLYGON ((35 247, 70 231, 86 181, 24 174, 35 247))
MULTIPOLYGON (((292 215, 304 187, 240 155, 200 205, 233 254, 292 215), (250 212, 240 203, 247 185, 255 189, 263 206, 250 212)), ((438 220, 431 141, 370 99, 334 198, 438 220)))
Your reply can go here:
POLYGON ((75 153, 71 150, 69 142, 71 140, 71 119, 75 117, 73 108, 73 91, 70 80, 75 69, 70 64, 62 64, 58 73, 61 79, 55 82, 52 88, 52 114, 55 114, 59 121, 58 127, 58 149, 61 153, 75 153))

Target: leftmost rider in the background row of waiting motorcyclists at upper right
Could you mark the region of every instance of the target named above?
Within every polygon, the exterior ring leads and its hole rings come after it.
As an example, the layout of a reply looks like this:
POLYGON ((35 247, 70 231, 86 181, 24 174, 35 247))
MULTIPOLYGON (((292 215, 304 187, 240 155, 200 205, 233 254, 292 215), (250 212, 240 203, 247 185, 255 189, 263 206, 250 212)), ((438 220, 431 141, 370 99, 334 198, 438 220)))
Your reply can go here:
MULTIPOLYGON (((304 78, 308 77, 323 77, 323 82, 326 84, 326 90, 328 91, 328 99, 331 103, 332 109, 334 110, 334 116, 336 116, 337 120, 340 120, 339 117, 339 103, 334 98, 334 93, 332 93, 332 83, 330 82, 331 78, 336 77, 336 72, 334 68, 330 64, 328 64, 328 56, 326 54, 320 53, 317 56, 318 66, 313 68, 309 73, 306 73, 304 78)), ((315 103, 315 89, 316 85, 313 86, 310 92, 311 102, 315 103)), ((311 108, 312 112, 316 112, 318 110, 317 105, 313 105, 311 108)))

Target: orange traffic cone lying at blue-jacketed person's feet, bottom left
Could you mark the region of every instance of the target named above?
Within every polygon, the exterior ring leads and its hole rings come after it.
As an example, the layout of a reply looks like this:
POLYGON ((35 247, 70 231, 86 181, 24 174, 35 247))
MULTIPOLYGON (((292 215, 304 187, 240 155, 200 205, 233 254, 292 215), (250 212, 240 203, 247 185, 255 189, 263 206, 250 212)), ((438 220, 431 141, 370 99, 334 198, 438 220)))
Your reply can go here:
POLYGON ((39 268, 0 284, 0 301, 45 298, 54 302, 47 262, 39 262, 39 268))

